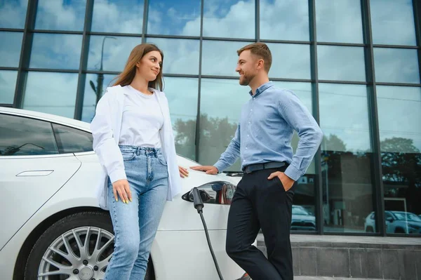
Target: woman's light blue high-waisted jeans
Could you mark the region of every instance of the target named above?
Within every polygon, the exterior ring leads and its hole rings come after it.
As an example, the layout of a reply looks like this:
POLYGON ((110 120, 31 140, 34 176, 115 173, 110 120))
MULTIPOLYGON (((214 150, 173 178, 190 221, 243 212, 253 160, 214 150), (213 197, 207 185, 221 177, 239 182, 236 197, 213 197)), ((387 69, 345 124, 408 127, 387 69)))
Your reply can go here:
POLYGON ((114 253, 105 280, 145 279, 149 251, 166 202, 168 171, 161 149, 120 146, 132 202, 114 199, 108 182, 114 253))

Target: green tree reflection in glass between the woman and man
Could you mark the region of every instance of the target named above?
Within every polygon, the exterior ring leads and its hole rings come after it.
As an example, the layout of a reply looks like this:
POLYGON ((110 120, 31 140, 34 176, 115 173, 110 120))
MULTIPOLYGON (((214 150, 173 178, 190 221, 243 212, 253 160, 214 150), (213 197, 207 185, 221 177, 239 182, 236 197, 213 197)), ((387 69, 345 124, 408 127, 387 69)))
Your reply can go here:
MULTIPOLYGON (((225 118, 213 118, 208 114, 201 114, 200 116, 200 145, 204 147, 201 149, 201 159, 213 158, 208 154, 210 151, 206 147, 218 147, 221 153, 225 151, 227 145, 234 137, 237 124, 232 124, 225 118)), ((178 154, 187 156, 189 159, 194 159, 194 143, 196 139, 196 120, 182 121, 177 119, 175 121, 174 130, 175 135, 175 149, 178 154)), ((218 154, 218 157, 220 154, 218 154)))

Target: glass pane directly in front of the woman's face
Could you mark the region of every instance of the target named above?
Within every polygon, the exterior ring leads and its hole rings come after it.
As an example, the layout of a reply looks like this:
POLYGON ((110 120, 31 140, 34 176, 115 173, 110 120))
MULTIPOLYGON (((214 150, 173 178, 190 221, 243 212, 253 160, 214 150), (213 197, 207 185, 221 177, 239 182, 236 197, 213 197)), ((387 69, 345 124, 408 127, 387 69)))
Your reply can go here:
POLYGON ((148 38, 163 52, 163 74, 199 74, 199 40, 148 38))

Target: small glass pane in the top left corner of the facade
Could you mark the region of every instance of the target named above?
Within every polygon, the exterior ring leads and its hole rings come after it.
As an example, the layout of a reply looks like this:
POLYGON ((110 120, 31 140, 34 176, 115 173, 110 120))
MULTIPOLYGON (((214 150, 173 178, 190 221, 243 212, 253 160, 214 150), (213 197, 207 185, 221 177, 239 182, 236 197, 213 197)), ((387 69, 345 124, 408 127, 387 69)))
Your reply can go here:
POLYGON ((0 28, 24 28, 28 0, 8 0, 0 3, 0 28))

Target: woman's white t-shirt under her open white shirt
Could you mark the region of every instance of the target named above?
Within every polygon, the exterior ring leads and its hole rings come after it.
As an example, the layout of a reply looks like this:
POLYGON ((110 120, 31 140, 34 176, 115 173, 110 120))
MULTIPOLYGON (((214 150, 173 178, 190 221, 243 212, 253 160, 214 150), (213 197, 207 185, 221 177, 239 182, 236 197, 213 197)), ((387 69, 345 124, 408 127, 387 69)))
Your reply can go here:
POLYGON ((128 94, 124 98, 119 145, 160 148, 163 114, 156 93, 146 95, 132 86, 123 86, 123 90, 128 94))

